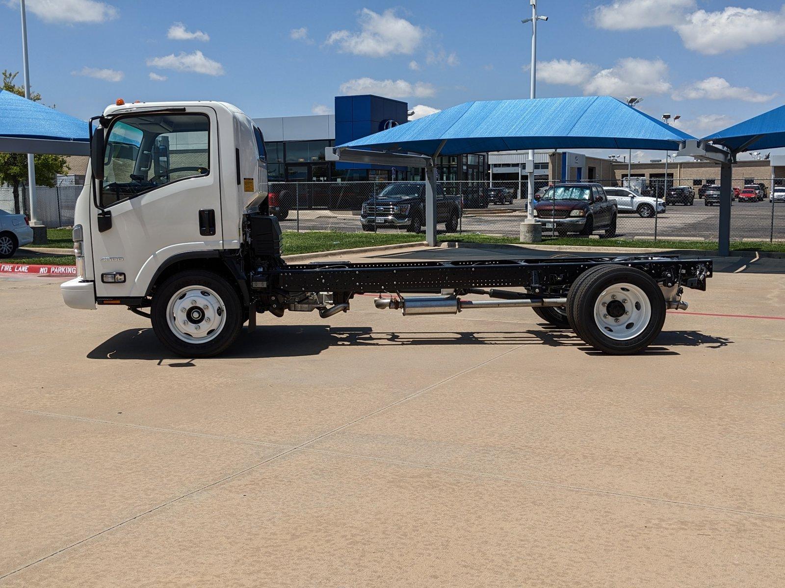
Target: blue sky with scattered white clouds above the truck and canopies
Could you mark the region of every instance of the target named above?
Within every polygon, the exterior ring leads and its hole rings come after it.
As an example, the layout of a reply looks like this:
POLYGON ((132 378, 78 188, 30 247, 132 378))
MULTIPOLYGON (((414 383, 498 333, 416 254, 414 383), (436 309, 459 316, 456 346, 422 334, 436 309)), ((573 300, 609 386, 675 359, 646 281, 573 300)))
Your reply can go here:
MULTIPOLYGON (((528 97, 528 0, 27 0, 31 82, 79 118, 129 100, 214 99, 252 117, 331 111, 341 93, 410 107, 528 97)), ((644 96, 699 136, 785 102, 785 5, 539 0, 538 96, 644 96)), ((18 0, 0 68, 21 69, 18 0)), ((19 80, 21 79, 21 74, 19 80)), ((425 108, 419 112, 428 112, 425 108)))

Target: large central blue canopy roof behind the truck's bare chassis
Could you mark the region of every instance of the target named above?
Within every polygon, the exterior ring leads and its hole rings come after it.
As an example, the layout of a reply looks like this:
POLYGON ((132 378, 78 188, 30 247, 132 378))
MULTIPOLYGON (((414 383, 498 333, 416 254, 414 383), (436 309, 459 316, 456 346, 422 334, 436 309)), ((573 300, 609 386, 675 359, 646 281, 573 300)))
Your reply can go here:
POLYGON ((433 155, 520 149, 676 151, 695 137, 610 96, 466 102, 340 147, 433 155))

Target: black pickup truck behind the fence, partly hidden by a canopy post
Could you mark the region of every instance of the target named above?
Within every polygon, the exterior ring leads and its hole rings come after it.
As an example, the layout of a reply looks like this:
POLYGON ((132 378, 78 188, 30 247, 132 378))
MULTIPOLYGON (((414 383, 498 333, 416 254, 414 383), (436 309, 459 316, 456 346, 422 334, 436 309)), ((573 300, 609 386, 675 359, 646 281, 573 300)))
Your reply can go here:
MULTIPOLYGON (((436 223, 444 223, 448 233, 458 230, 461 197, 444 194, 436 186, 436 223)), ((425 182, 396 182, 385 187, 376 198, 363 202, 360 210, 363 230, 399 227, 419 233, 425 226, 425 182)))

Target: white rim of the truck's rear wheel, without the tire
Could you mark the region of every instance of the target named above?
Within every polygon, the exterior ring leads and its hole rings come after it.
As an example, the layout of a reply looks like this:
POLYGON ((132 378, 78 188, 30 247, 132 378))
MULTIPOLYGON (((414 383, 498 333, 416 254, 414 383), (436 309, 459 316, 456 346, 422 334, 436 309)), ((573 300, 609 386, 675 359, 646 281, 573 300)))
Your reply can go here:
POLYGON ((633 284, 610 285, 594 303, 597 326, 604 336, 617 341, 637 337, 651 320, 652 303, 646 293, 633 284))

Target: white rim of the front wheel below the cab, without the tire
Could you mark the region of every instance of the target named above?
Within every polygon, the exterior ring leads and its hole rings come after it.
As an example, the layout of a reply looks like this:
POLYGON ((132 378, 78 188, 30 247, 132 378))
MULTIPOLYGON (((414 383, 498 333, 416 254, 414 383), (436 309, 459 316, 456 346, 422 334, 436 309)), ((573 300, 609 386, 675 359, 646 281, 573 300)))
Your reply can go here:
POLYGON ((226 324, 226 308, 221 296, 204 286, 180 289, 169 299, 166 320, 178 339, 187 343, 207 343, 226 324))

